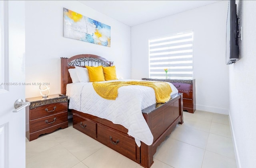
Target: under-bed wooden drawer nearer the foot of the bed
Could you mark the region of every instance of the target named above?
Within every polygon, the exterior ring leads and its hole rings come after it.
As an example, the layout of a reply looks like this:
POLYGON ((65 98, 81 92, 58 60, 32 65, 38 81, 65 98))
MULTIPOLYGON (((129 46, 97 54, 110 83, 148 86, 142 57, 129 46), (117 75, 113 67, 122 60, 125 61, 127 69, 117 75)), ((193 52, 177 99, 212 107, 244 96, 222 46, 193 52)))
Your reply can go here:
POLYGON ((132 160, 136 160, 136 143, 134 139, 112 131, 99 124, 97 126, 97 132, 97 140, 100 143, 116 150, 132 160))

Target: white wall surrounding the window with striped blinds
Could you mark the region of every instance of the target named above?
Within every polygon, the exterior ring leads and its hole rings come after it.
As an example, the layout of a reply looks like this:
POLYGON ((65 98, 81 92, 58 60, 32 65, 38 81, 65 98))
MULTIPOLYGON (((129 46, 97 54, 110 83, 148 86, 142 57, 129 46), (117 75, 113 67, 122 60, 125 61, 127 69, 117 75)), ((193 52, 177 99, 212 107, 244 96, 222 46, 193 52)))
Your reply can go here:
POLYGON ((216 2, 132 27, 132 78, 148 78, 148 39, 192 30, 196 109, 228 114, 226 17, 228 1, 216 2))

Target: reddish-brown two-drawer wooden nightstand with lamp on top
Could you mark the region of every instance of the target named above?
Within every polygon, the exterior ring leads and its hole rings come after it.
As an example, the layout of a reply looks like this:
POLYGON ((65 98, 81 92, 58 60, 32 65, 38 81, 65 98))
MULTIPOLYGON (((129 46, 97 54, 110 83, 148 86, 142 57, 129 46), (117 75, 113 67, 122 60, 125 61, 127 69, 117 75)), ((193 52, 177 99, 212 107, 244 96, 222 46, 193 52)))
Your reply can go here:
POLYGON ((29 141, 68 127, 68 96, 54 94, 48 98, 27 98, 26 102, 30 102, 26 107, 26 123, 29 123, 26 125, 26 137, 29 141))

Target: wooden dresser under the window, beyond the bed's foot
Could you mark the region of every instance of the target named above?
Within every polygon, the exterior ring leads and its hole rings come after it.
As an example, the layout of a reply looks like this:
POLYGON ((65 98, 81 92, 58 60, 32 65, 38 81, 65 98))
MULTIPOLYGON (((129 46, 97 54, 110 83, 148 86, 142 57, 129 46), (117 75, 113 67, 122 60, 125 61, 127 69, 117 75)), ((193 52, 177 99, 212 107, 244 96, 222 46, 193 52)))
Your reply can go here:
POLYGON ((183 110, 189 113, 196 111, 196 83, 193 80, 182 79, 151 79, 142 78, 142 80, 153 80, 172 83, 180 93, 183 93, 183 110))

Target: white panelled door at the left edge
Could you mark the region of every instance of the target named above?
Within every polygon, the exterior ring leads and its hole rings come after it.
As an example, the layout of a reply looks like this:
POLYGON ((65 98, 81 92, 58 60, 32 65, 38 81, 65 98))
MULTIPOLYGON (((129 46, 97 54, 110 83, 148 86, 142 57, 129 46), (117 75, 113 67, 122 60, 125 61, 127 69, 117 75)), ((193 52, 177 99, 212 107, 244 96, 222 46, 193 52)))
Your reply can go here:
POLYGON ((0 0, 0 168, 26 167, 25 2, 0 0))

